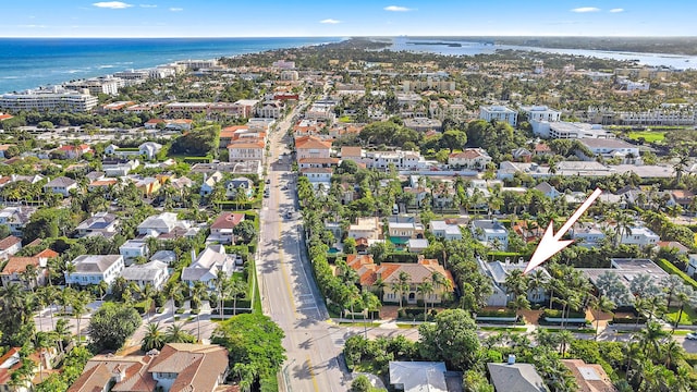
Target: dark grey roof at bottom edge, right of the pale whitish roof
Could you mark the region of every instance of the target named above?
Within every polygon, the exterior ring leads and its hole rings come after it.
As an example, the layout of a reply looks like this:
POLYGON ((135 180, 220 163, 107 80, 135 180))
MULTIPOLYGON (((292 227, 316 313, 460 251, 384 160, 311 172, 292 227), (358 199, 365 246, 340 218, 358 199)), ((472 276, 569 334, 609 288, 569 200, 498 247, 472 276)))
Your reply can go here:
POLYGON ((493 364, 487 368, 497 392, 548 392, 545 381, 530 364, 493 364))

